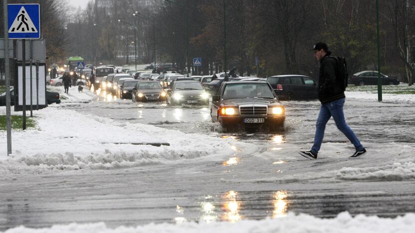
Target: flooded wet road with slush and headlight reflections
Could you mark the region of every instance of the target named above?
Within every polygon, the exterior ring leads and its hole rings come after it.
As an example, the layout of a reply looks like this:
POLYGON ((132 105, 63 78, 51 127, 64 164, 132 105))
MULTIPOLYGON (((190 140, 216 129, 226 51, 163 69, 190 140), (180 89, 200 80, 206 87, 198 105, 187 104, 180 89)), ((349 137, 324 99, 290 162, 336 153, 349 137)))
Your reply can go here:
MULTIPOLYGON (((401 162, 399 156, 415 151, 413 106, 348 99, 346 121, 368 148, 368 155, 348 159, 354 148, 331 119, 321 158, 311 161, 297 153, 313 142, 320 104, 283 104, 287 115, 283 132, 222 133, 220 125, 210 121, 208 106, 171 107, 102 97, 64 103, 59 108, 114 119, 119 125, 144 123, 231 138, 248 146, 235 147, 223 159, 20 174, 13 180, 0 180, 0 230, 71 222, 103 221, 110 227, 237 222, 284 217, 288 212, 325 218, 343 211, 382 217, 415 212, 414 179, 393 175, 394 162, 401 162), (384 171, 392 175, 378 175, 384 171)), ((407 162, 414 159, 407 158, 407 162)))

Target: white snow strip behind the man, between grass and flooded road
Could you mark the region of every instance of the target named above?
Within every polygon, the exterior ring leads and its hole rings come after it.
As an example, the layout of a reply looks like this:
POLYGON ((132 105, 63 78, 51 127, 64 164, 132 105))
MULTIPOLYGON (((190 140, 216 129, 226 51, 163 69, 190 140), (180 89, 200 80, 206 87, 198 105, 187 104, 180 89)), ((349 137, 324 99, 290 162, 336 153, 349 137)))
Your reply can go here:
MULTIPOLYGON (((346 98, 378 101, 377 93, 345 92, 345 95, 346 98)), ((414 104, 415 95, 382 94, 382 100, 385 103, 414 104)))

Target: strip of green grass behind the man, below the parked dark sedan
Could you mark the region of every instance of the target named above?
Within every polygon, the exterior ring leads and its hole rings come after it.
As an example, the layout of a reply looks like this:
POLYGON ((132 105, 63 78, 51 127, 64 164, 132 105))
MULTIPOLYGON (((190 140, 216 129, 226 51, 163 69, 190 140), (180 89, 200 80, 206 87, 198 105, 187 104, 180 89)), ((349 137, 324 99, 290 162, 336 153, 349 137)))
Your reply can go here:
MULTIPOLYGON (((352 84, 347 87, 346 91, 378 93, 378 86, 355 86, 352 84)), ((382 93, 396 94, 396 95, 415 95, 415 86, 407 86, 407 85, 382 86, 382 93)))

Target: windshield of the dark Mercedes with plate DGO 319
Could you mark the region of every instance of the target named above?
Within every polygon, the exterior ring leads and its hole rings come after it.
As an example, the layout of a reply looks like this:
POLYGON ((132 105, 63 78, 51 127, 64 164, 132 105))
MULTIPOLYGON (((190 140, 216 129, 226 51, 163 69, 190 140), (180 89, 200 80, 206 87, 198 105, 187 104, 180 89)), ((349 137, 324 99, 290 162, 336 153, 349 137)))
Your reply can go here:
POLYGON ((226 84, 223 92, 223 99, 243 99, 243 98, 264 98, 274 99, 271 89, 266 83, 237 83, 226 84))

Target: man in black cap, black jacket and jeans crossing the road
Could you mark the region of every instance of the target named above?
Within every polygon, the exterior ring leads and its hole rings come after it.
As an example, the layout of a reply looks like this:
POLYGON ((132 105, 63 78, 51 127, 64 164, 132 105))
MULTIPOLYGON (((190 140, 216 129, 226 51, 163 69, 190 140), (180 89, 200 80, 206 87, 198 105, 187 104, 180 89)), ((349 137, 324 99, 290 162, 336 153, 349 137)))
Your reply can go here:
POLYGON ((344 117, 343 105, 345 95, 339 80, 337 58, 330 56, 331 52, 325 43, 319 42, 314 45, 313 49, 314 56, 317 61, 320 61, 318 99, 321 102, 321 108, 316 122, 314 145, 311 147, 311 150, 300 151, 299 153, 306 158, 317 159, 327 121, 333 116, 337 128, 344 133, 356 148, 356 152, 351 157, 359 157, 366 153, 366 149, 360 143, 353 130, 347 125, 344 117))

